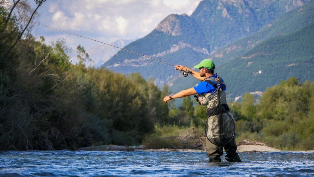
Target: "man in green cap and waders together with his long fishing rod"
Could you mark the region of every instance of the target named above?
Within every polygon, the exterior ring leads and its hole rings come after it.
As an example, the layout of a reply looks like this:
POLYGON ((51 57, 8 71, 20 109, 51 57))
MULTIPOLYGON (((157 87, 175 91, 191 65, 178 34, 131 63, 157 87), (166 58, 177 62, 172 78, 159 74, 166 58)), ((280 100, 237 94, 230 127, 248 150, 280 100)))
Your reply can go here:
POLYGON ((207 156, 209 157, 209 162, 220 162, 220 156, 223 155, 223 148, 225 148, 225 151, 227 155, 225 158, 229 162, 241 162, 241 159, 239 155, 236 153, 237 145, 236 141, 234 139, 234 122, 232 114, 229 112, 229 108, 226 102, 226 95, 225 95, 225 84, 223 83, 223 80, 220 76, 217 74, 214 74, 215 65, 214 62, 210 59, 203 60, 200 64, 194 66, 195 68, 199 69, 199 72, 193 71, 192 69, 189 69, 183 65, 172 65, 169 63, 166 63, 164 61, 136 53, 121 47, 117 47, 105 42, 101 42, 95 39, 91 39, 89 37, 81 36, 78 34, 70 33, 64 30, 59 30, 56 28, 52 28, 50 26, 41 25, 35 22, 30 22, 32 24, 44 26, 47 28, 51 28, 54 30, 62 31, 64 33, 68 33, 74 36, 79 36, 82 38, 86 38, 92 41, 100 42, 102 44, 106 44, 112 47, 119 48, 121 50, 127 51, 129 53, 137 54, 155 61, 158 61, 162 64, 166 64, 170 67, 175 67, 175 69, 182 71, 182 74, 184 77, 187 77, 188 74, 191 74, 198 80, 203 80, 202 82, 198 83, 196 86, 182 90, 174 95, 166 96, 164 98, 164 102, 167 102, 174 98, 182 98, 190 95, 196 95, 197 97, 201 98, 199 102, 202 105, 207 106, 207 112, 208 112, 208 119, 206 121, 205 126, 205 132, 206 132, 206 150, 207 150, 207 156), (221 93, 221 95, 219 94, 221 93), (219 97, 219 99, 217 99, 219 97), (221 102, 221 104, 220 104, 221 102), (223 108, 223 112, 215 111, 216 108, 223 108), (220 116, 218 116, 220 115, 220 116), (228 118, 229 116, 229 118, 228 118), (231 120, 230 120, 231 119, 231 120), (225 121, 227 120, 227 121, 225 121), (218 122, 218 123, 217 123, 218 122), (221 124, 222 122, 222 124, 221 124), (225 122, 227 122, 225 124, 225 122), (210 126, 208 126, 210 125, 210 126), (225 126, 227 125, 227 126, 225 126), (231 125, 231 126, 229 126, 231 125), (233 125, 233 126, 232 126, 233 125), (226 128, 227 127, 227 128, 226 128), (228 128, 228 127, 231 127, 228 128), (231 130, 231 131, 229 131, 231 130), (231 134, 229 133, 231 132, 231 134), (223 140, 223 141, 221 141, 223 140), (227 140, 227 141, 226 141, 227 140))

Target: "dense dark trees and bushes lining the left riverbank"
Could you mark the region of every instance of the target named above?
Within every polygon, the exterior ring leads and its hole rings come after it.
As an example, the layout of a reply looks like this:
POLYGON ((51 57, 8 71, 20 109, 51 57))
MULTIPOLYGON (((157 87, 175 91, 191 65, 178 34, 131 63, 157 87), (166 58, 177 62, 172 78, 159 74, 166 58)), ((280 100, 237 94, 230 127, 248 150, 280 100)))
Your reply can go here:
POLYGON ((82 46, 73 65, 65 40, 46 45, 29 34, 5 55, 19 25, 9 20, 0 40, 0 149, 135 145, 167 112, 153 79, 86 67, 82 46))

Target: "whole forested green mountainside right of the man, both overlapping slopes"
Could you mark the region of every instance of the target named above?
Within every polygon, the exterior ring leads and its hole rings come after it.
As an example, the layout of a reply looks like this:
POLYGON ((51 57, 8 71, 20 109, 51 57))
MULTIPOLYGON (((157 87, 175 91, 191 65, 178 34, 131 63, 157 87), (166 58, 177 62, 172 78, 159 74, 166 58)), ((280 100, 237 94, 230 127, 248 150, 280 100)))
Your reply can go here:
MULTIPOLYGON (((311 72, 314 51, 314 1, 291 10, 269 22, 257 33, 242 37, 210 55, 216 72, 223 77, 230 100, 246 92, 261 93, 280 80, 298 77, 314 80, 311 72)), ((181 79, 174 85, 179 85, 181 79)), ((196 84, 184 78, 185 89, 196 84)))

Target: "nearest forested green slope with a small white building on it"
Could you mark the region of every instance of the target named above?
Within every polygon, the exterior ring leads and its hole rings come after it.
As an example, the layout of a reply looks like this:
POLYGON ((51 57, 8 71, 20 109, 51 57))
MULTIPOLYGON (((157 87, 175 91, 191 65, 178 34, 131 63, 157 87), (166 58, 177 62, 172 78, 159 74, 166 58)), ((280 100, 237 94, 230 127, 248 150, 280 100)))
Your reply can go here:
POLYGON ((261 42, 219 69, 228 82, 228 97, 264 91, 281 80, 314 80, 314 22, 295 33, 261 42))

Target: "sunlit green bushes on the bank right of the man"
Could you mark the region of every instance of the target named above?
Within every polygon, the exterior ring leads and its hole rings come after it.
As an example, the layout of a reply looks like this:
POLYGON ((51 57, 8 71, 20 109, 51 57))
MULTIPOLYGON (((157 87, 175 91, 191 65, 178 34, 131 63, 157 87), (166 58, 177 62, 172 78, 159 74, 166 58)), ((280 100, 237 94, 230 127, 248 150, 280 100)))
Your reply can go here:
POLYGON ((295 77, 268 87, 259 98, 246 93, 232 104, 240 140, 255 133, 254 140, 282 149, 313 149, 314 82, 299 83, 295 77), (254 118, 254 119, 252 119, 254 118))

